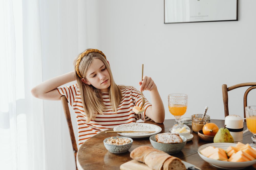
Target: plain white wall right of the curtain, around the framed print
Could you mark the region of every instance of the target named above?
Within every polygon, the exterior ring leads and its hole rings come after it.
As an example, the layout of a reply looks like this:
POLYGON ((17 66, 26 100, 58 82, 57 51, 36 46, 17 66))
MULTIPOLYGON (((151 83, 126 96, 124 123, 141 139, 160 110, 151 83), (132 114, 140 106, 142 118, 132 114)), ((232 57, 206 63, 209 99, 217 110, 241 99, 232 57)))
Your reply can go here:
MULTIPOLYGON (((239 1, 239 21, 164 24, 163 1, 100 1, 100 49, 118 84, 138 88, 144 63, 144 74, 164 102, 165 119, 174 118, 167 106, 171 93, 188 95, 183 117, 208 106, 211 119, 224 119, 221 85, 256 81, 255 5, 239 1)), ((230 114, 243 115, 246 89, 229 92, 230 114)), ((248 105, 256 105, 255 94, 249 94, 248 105)))

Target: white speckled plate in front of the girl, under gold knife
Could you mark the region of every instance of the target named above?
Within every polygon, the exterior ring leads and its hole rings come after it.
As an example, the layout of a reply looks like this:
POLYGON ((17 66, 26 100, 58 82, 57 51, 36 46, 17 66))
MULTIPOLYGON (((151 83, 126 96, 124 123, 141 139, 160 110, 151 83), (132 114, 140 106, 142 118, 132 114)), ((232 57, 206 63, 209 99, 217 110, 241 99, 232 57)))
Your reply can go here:
POLYGON ((161 132, 162 128, 148 123, 127 123, 115 126, 114 131, 156 131, 154 133, 118 133, 130 138, 145 138, 161 132))

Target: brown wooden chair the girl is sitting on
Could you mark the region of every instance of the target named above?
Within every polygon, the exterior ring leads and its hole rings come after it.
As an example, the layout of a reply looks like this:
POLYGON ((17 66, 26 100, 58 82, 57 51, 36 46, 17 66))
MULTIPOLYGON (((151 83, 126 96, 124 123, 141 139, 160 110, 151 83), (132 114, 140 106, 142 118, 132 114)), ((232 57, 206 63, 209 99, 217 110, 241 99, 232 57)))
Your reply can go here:
POLYGON ((63 111, 65 113, 67 124, 68 124, 69 136, 70 136, 70 139, 72 142, 76 170, 78 170, 77 169, 77 151, 78 151, 78 149, 77 149, 77 142, 76 142, 76 138, 75 138, 72 122, 71 122, 70 111, 69 111, 69 107, 68 107, 68 100, 67 100, 66 96, 61 96, 60 100, 61 100, 61 103, 63 106, 63 111))

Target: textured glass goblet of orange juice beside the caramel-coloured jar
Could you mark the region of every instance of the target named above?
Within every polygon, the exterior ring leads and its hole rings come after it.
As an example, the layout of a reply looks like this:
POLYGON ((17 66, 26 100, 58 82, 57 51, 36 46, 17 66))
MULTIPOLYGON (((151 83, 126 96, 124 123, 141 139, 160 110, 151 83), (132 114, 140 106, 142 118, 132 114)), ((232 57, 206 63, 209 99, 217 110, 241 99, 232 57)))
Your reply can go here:
POLYGON ((185 94, 169 94, 168 95, 168 108, 169 112, 175 117, 175 124, 179 124, 179 119, 187 111, 188 96, 185 94))

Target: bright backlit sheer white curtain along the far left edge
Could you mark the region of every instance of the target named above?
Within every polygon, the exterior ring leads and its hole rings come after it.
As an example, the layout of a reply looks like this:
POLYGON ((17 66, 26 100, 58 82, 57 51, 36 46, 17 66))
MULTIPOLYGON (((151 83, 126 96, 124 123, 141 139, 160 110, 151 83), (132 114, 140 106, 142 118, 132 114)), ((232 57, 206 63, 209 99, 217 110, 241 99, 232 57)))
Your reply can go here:
POLYGON ((46 169, 39 1, 0 1, 0 169, 46 169))

